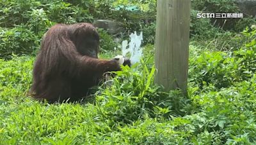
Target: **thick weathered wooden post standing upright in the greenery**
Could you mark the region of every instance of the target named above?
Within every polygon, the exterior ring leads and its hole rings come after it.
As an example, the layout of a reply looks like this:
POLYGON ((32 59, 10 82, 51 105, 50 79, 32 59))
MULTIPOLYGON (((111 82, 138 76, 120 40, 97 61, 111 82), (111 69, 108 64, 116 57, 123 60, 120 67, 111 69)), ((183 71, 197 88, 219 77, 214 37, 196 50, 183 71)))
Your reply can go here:
POLYGON ((190 0, 157 0, 156 78, 165 91, 187 94, 190 0))

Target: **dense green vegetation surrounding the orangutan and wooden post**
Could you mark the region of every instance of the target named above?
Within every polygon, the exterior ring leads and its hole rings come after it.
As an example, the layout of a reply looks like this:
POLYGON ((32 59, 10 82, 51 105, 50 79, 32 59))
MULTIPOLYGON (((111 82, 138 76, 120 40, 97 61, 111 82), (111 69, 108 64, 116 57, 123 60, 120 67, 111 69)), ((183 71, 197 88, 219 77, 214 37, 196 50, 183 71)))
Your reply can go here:
MULTIPOLYGON (((186 97, 153 83, 155 0, 1 1, 0 144, 255 144, 255 19, 237 20, 223 30, 195 13, 237 11, 232 1, 194 0, 192 6, 186 97), (120 5, 138 11, 115 10, 120 5), (44 32, 56 23, 99 18, 124 22, 121 40, 143 31, 140 64, 124 67, 110 86, 102 83, 81 102, 47 104, 26 97, 44 32)), ((99 32, 100 57, 119 54, 114 36, 99 32)))

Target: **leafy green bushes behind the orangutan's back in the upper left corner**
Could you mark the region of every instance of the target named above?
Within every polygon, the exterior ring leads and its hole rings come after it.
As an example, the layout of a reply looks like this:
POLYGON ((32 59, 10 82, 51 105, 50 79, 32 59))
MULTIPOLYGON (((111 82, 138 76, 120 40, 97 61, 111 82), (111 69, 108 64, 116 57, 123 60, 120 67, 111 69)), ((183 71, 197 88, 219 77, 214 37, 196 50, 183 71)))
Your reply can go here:
POLYGON ((88 10, 63 1, 12 0, 0 3, 0 57, 30 54, 43 34, 56 23, 92 22, 88 10))

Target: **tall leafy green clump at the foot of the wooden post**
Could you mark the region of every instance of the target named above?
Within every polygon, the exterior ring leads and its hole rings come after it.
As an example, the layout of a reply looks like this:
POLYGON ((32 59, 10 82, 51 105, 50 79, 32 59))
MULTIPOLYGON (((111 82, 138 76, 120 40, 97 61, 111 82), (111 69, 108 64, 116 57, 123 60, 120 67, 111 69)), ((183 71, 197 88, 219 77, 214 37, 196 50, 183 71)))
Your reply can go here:
POLYGON ((115 72, 112 86, 102 88, 97 95, 99 114, 118 123, 132 123, 138 119, 150 117, 167 117, 170 113, 179 115, 182 109, 181 93, 163 93, 153 85, 155 68, 147 66, 123 67, 115 72))

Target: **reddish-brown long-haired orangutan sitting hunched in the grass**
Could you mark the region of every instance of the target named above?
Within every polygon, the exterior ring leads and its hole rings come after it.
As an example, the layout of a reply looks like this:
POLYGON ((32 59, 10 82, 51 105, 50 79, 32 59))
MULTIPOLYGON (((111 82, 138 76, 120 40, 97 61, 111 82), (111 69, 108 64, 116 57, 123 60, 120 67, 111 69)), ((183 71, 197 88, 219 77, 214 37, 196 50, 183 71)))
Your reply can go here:
POLYGON ((116 60, 98 59, 98 52, 99 34, 92 24, 52 26, 36 57, 31 94, 49 102, 85 97, 104 72, 120 70, 116 60))

